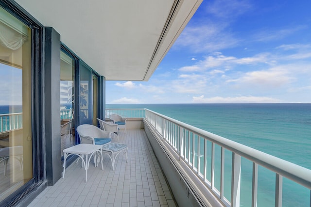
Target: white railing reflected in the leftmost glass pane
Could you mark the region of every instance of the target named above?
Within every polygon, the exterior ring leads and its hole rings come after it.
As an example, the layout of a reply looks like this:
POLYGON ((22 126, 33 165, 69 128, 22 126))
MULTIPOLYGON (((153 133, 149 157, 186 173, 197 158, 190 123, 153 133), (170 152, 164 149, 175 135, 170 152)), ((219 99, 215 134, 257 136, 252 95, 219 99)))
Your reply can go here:
POLYGON ((23 113, 0 114, 0 133, 23 127, 23 113))

